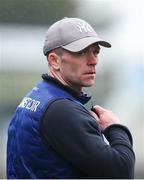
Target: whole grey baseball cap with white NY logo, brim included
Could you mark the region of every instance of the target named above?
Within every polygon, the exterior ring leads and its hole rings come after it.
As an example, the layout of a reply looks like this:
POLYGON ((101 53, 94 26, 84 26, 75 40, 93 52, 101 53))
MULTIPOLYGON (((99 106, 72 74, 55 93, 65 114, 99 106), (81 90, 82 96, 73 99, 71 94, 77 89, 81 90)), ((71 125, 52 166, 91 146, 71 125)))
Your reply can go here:
POLYGON ((46 55, 58 47, 79 52, 93 43, 111 47, 111 44, 101 39, 86 21, 79 18, 63 18, 51 25, 46 32, 43 53, 46 55))

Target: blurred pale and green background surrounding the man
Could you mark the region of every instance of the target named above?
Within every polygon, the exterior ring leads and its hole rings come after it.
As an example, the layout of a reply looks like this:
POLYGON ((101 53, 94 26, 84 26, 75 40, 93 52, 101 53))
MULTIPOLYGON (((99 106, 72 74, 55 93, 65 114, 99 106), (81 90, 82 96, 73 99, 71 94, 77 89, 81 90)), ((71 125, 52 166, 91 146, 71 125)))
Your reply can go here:
POLYGON ((111 49, 101 49, 95 86, 85 90, 94 104, 112 110, 129 127, 135 178, 144 178, 143 5, 143 0, 0 0, 0 178, 6 178, 8 123, 23 96, 47 72, 45 32, 63 17, 88 21, 111 42, 111 49))

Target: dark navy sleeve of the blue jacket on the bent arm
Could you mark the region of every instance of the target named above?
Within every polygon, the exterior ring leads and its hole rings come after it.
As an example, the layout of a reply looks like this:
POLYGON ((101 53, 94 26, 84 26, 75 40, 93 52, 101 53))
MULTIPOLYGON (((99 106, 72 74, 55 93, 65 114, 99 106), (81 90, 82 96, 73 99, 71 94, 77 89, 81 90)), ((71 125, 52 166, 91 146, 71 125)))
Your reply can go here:
POLYGON ((42 120, 47 143, 88 178, 133 178, 132 136, 122 125, 99 125, 83 106, 70 100, 53 102, 42 120))

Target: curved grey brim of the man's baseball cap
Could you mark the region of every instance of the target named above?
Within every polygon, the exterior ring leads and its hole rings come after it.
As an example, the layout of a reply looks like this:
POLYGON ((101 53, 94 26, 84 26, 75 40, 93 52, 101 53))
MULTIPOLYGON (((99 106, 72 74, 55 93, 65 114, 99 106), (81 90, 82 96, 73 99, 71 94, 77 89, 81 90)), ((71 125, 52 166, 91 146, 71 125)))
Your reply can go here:
POLYGON ((71 51, 71 52, 79 52, 85 49, 86 47, 90 46, 91 44, 98 43, 101 46, 110 48, 111 44, 107 41, 104 41, 98 37, 85 37, 82 39, 79 39, 77 41, 74 41, 70 44, 62 46, 62 48, 71 51))

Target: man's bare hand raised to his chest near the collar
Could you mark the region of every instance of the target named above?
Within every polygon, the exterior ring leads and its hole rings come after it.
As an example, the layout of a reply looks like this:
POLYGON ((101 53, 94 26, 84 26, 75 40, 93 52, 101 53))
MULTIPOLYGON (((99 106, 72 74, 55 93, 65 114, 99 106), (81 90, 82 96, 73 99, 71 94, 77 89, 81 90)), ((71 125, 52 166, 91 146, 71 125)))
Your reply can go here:
POLYGON ((105 130, 112 124, 120 124, 119 118, 112 111, 104 109, 101 106, 94 106, 90 113, 96 119, 102 130, 105 130))

